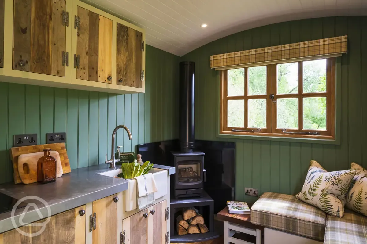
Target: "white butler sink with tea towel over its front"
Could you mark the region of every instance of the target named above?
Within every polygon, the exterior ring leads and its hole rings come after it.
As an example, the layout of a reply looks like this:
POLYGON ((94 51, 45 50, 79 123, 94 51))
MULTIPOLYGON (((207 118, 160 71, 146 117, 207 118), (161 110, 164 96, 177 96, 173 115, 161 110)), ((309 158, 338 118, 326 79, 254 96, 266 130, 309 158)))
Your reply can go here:
MULTIPOLYGON (((99 173, 104 176, 117 177, 119 173, 122 173, 121 169, 110 170, 107 172, 99 173)), ((164 169, 152 168, 149 170, 152 173, 154 180, 156 181, 158 191, 154 193, 154 199, 157 200, 167 194, 168 172, 164 169)), ((125 211, 131 211, 137 208, 137 185, 136 180, 129 180, 129 188, 123 192, 125 200, 125 211)))

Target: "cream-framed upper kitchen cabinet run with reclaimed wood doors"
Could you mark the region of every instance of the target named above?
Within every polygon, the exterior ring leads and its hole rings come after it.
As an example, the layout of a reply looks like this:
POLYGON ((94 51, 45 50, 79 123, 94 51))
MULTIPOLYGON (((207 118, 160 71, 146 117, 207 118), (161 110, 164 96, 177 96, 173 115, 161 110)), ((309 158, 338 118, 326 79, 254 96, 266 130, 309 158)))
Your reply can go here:
POLYGON ((0 82, 144 93, 145 31, 97 7, 0 0, 0 82))

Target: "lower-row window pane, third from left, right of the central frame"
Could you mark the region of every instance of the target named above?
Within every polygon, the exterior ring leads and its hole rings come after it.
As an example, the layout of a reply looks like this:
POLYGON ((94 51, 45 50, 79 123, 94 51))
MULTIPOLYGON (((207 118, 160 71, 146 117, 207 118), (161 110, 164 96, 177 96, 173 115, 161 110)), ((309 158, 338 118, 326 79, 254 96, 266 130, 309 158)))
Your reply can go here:
POLYGON ((278 98, 277 128, 298 129, 298 98, 278 98))

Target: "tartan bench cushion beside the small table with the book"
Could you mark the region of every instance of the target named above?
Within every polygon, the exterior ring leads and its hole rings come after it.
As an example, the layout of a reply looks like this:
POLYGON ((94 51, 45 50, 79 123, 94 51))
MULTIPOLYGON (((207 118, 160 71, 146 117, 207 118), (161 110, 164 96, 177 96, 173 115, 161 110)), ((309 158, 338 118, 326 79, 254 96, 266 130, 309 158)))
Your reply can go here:
POLYGON ((326 213, 295 196, 265 192, 251 207, 251 223, 322 241, 326 213))

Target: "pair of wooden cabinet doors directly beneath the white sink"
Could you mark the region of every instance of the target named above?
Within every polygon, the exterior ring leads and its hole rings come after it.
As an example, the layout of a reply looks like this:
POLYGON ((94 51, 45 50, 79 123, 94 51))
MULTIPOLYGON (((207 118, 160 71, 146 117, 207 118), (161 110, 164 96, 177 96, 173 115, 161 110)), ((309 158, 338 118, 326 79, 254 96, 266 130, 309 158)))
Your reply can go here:
POLYGON ((125 244, 166 243, 167 200, 142 210, 123 220, 125 244))

